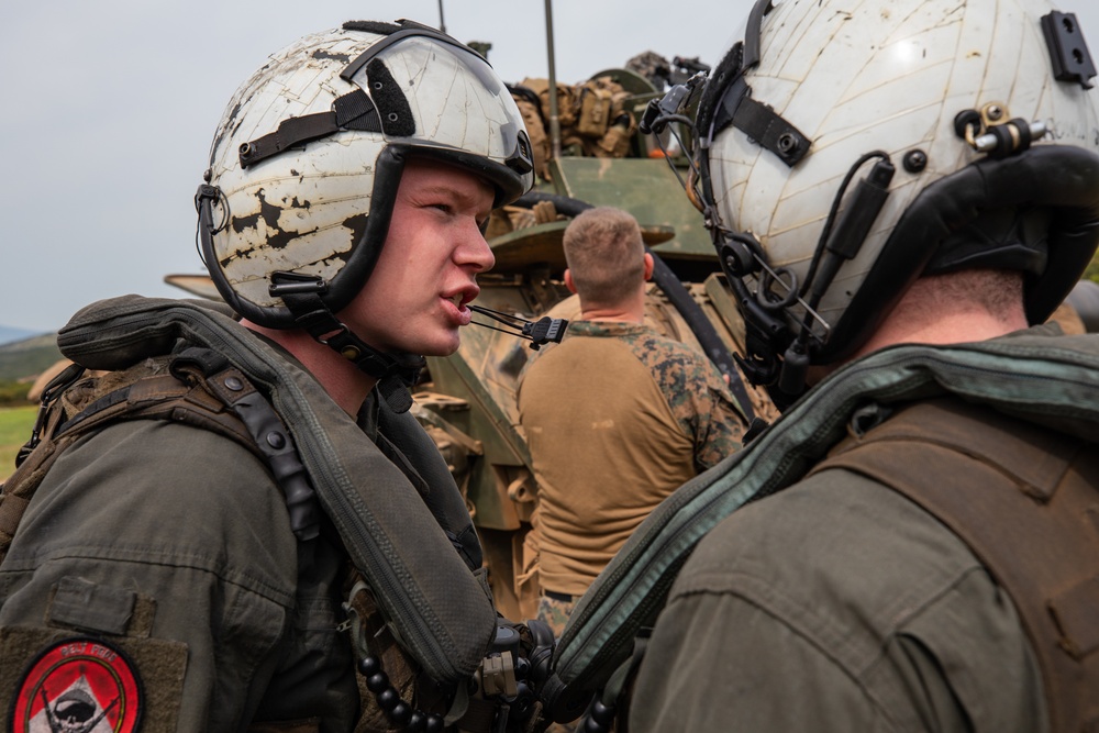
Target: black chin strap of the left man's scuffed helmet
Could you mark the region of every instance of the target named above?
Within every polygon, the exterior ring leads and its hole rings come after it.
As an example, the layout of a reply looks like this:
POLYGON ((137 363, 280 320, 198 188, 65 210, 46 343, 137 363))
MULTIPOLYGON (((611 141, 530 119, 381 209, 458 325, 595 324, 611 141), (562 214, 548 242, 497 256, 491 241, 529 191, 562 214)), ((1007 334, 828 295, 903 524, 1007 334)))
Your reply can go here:
POLYGON ((282 299, 295 323, 319 343, 352 362, 378 380, 378 390, 395 412, 412 407, 409 388, 420 380, 425 360, 419 354, 386 353, 352 333, 321 299, 324 282, 319 277, 297 273, 271 275, 270 293, 282 299))

